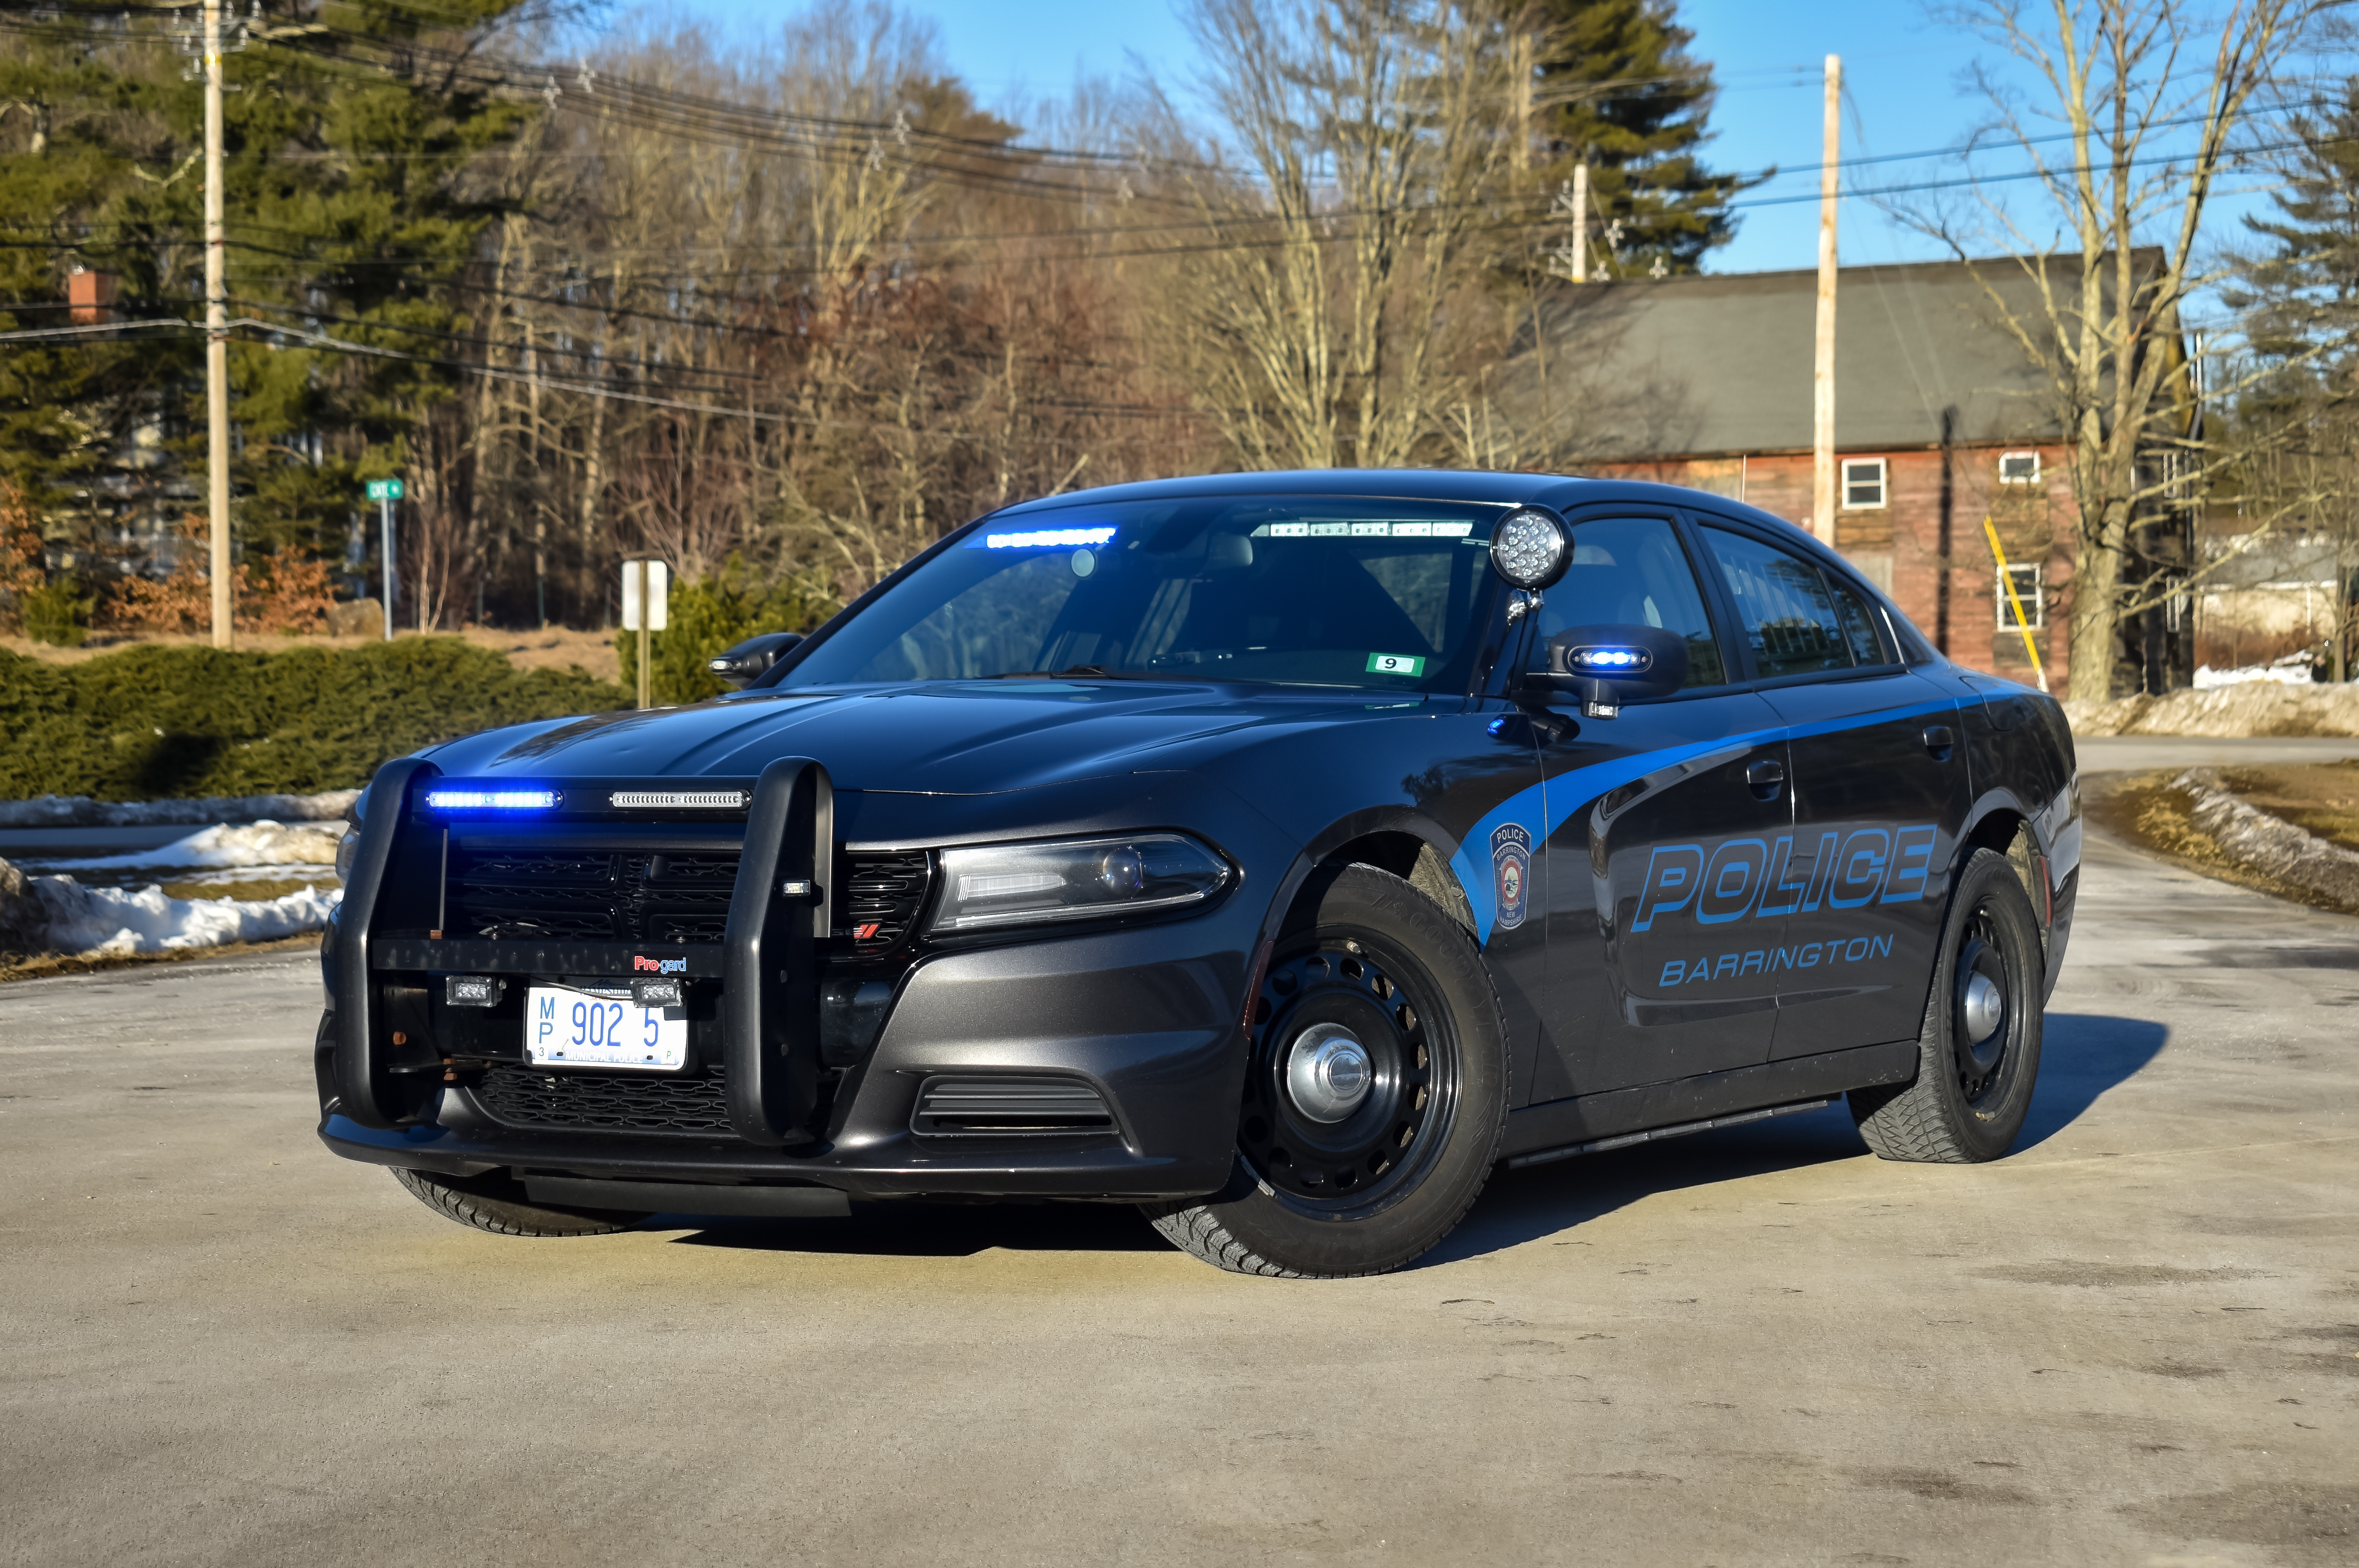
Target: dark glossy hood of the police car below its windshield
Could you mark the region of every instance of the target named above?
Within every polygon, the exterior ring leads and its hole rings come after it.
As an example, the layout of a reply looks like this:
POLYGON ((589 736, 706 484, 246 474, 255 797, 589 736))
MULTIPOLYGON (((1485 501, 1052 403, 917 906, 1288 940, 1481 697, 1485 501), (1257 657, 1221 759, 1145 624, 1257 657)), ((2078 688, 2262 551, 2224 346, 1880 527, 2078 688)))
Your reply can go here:
POLYGON ((1189 681, 764 691, 498 729, 429 755, 451 776, 517 780, 750 778, 778 757, 814 757, 837 790, 993 795, 1201 766, 1255 738, 1356 717, 1368 696, 1189 681))

